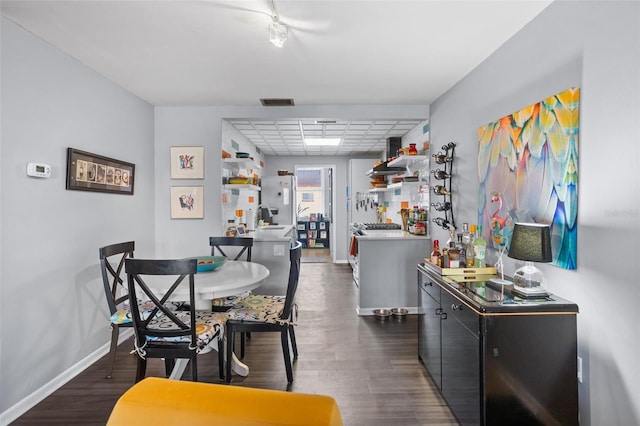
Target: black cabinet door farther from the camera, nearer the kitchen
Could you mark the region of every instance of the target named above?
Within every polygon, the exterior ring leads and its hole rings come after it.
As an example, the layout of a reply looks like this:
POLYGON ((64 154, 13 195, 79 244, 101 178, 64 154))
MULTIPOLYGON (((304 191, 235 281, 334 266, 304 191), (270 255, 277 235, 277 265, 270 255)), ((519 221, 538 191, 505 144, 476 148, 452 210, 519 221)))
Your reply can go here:
POLYGON ((442 388, 440 287, 420 274, 418 291, 418 351, 431 378, 440 389, 442 388))

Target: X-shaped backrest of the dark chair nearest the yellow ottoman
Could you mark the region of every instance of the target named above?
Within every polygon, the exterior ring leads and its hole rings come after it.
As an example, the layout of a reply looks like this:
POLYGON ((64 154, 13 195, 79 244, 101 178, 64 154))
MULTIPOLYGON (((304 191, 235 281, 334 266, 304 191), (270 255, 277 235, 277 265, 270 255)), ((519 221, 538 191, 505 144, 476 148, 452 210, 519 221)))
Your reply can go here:
MULTIPOLYGON (((125 270, 128 277, 129 300, 138 347, 146 345, 147 337, 170 338, 190 336, 190 341, 195 344, 194 274, 197 270, 197 260, 126 259, 125 270), (163 296, 159 297, 145 282, 143 278, 145 275, 172 275, 177 278, 175 278, 168 289, 163 290, 163 296), (173 296, 178 287, 185 282, 185 279, 187 279, 186 281, 189 286, 189 324, 185 323, 174 311, 165 306, 166 302, 173 296), (153 307, 146 312, 141 312, 137 300, 149 300, 153 307), (163 319, 162 328, 154 327, 154 325, 158 325, 155 320, 159 316, 162 316, 163 319)), ((189 346, 187 343, 185 343, 185 345, 189 346)))

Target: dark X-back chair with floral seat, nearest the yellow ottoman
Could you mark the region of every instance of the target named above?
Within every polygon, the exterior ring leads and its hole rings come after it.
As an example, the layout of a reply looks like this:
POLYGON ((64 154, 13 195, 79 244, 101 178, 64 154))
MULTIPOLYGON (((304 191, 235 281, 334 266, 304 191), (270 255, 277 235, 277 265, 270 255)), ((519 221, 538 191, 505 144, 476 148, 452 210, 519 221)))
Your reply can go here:
POLYGON ((223 369, 223 332, 225 314, 210 311, 196 311, 194 275, 197 271, 196 259, 142 260, 126 259, 125 271, 131 304, 131 317, 135 330, 135 348, 138 353, 136 382, 146 373, 147 358, 164 358, 167 375, 175 359, 187 358, 191 362, 192 380, 198 381, 198 353, 218 338, 218 363, 220 378, 223 369), (171 276, 172 284, 163 290, 163 296, 145 282, 151 275, 171 276), (167 306, 167 301, 180 286, 189 287, 187 311, 175 311, 167 306), (139 300, 149 300, 141 305, 139 300))

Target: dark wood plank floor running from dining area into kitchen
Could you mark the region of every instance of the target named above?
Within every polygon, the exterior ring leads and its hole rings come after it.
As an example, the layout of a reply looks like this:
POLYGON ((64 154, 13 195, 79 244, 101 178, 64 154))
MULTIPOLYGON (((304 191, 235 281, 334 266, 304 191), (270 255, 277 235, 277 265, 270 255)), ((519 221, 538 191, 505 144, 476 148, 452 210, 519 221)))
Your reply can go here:
MULTIPOLYGON (((293 384, 287 386, 279 335, 254 333, 245 357, 251 372, 246 378, 234 375, 232 386, 331 395, 345 425, 457 425, 418 361, 417 317, 385 322, 358 317, 355 298, 348 265, 304 264, 293 384)), ((112 379, 104 377, 102 358, 13 424, 104 425, 133 385, 131 348, 131 340, 120 345, 112 379)), ((149 360, 147 375, 163 374, 161 361, 149 360)), ((198 375, 200 381, 219 382, 215 352, 198 359, 198 375)))

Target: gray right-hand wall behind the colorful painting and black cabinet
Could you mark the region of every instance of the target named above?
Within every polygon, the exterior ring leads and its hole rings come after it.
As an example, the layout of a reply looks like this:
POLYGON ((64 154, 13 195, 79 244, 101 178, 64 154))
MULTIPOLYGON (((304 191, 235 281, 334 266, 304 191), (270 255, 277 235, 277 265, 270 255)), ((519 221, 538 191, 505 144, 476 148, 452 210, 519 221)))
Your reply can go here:
POLYGON ((431 105, 432 146, 458 143, 456 222, 475 223, 478 127, 581 88, 578 269, 541 269, 580 306, 583 425, 640 424, 639 70, 640 3, 556 1, 431 105))

